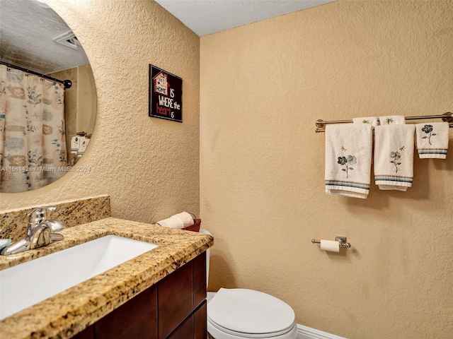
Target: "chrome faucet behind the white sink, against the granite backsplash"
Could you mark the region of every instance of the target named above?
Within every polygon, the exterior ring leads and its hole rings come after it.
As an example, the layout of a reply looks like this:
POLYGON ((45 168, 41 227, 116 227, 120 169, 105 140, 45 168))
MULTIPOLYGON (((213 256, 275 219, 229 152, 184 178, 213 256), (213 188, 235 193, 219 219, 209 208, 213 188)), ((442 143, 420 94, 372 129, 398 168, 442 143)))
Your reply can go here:
POLYGON ((55 233, 63 230, 66 225, 55 219, 47 220, 47 211, 55 210, 54 206, 44 206, 35 208, 28 214, 27 235, 24 239, 6 246, 2 251, 2 256, 16 254, 28 249, 38 249, 38 247, 47 246, 52 242, 64 239, 62 234, 55 233))

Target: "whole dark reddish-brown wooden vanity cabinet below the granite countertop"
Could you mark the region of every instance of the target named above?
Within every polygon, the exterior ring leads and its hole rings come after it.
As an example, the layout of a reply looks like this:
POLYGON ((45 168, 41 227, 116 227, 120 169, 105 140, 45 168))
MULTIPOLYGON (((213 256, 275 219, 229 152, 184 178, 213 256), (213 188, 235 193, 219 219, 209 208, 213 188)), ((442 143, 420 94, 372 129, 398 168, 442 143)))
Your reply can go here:
POLYGON ((99 319, 75 339, 206 339, 206 253, 99 319))

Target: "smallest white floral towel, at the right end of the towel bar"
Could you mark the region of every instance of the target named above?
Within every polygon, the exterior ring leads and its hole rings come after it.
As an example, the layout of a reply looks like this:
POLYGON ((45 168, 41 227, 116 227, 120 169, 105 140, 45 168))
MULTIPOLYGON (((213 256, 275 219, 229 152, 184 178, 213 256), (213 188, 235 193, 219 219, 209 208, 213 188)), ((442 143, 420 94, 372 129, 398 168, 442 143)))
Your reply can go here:
POLYGON ((417 150, 420 159, 446 159, 448 149, 448 122, 415 124, 417 150))

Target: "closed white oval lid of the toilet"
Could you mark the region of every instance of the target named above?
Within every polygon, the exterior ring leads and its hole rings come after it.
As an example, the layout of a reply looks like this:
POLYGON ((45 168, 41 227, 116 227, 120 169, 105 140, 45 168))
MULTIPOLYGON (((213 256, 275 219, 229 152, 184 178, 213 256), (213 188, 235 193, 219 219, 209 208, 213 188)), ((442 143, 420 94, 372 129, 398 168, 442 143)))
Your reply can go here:
POLYGON ((227 332, 286 333, 294 326, 294 311, 263 292, 221 288, 207 305, 209 321, 227 332))

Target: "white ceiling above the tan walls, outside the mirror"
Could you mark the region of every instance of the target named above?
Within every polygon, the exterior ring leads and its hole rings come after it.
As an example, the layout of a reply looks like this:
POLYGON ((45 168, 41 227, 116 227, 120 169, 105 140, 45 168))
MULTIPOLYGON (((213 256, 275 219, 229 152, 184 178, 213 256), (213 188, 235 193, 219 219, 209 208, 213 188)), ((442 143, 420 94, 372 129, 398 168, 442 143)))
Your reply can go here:
POLYGON ((200 37, 335 0, 156 0, 200 37))

